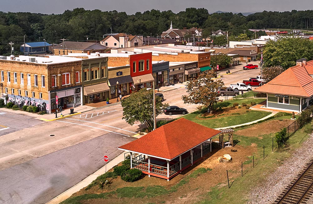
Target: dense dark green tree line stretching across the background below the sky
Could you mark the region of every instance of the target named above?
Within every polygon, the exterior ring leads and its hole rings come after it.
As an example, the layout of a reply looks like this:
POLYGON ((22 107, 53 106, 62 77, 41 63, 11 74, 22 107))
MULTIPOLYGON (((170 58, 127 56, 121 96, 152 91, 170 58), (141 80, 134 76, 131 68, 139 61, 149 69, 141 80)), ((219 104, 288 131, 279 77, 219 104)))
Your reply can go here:
MULTIPOLYGON (((126 12, 85 10, 75 8, 62 14, 41 14, 30 12, 0 12, 0 55, 10 51, 8 42, 22 44, 45 39, 59 43, 61 38, 75 41, 102 40, 105 33, 126 32, 133 35, 156 36, 166 31, 170 24, 174 28, 203 28, 203 36, 213 31, 228 30, 229 36, 247 34, 254 38, 255 33, 248 29, 285 28, 311 29, 313 11, 259 12, 249 16, 241 13, 209 14, 205 8, 186 8, 173 13, 171 10, 152 9, 127 15, 126 12)), ((15 45, 16 46, 16 45, 15 45)), ((18 50, 18 49, 16 49, 18 50)))

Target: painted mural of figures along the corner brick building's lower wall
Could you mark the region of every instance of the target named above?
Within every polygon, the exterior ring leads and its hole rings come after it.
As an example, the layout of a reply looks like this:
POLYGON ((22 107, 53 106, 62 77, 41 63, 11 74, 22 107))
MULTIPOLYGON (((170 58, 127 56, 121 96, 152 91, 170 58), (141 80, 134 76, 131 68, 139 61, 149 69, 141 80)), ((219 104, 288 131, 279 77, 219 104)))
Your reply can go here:
POLYGON ((9 99, 8 102, 12 102, 14 105, 18 105, 19 108, 23 108, 23 106, 37 106, 39 112, 45 111, 49 113, 49 101, 38 98, 31 97, 23 97, 23 96, 15 96, 8 94, 9 99))

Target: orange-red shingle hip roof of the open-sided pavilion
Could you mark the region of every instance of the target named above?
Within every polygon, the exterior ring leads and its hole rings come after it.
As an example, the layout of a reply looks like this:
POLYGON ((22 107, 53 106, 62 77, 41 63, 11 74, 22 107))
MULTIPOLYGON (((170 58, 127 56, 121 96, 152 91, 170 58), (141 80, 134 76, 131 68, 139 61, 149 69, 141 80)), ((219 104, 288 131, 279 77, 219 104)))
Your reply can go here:
POLYGON ((181 118, 122 145, 119 149, 172 160, 220 132, 181 118))

